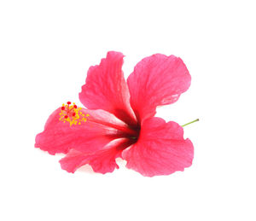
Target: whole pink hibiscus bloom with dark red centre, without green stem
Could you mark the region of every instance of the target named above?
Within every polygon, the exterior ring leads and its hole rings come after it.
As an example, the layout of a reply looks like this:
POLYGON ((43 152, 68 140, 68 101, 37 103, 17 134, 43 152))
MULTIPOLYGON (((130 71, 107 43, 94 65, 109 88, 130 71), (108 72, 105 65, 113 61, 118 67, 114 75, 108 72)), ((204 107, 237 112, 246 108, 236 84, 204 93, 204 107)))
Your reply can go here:
POLYGON ((75 172, 89 164, 95 172, 126 167, 153 177, 183 171, 192 164, 194 148, 183 138, 183 127, 154 117, 156 107, 176 102, 189 89, 191 77, 174 56, 151 55, 140 61, 125 81, 123 58, 108 52, 100 65, 90 67, 74 103, 57 108, 36 137, 35 147, 49 154, 67 154, 61 168, 75 172))

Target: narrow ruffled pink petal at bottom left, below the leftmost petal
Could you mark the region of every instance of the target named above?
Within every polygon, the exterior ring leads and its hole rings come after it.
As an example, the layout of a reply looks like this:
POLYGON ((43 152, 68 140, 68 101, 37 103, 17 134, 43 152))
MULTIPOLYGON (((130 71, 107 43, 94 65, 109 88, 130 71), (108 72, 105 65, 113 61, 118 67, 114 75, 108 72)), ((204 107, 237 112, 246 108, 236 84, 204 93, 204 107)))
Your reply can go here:
POLYGON ((95 153, 84 154, 77 150, 70 150, 66 157, 60 160, 61 168, 67 172, 75 172, 80 166, 89 164, 94 172, 106 173, 119 169, 115 159, 121 156, 124 148, 131 145, 129 139, 117 139, 95 153))

